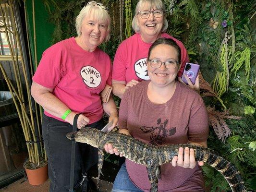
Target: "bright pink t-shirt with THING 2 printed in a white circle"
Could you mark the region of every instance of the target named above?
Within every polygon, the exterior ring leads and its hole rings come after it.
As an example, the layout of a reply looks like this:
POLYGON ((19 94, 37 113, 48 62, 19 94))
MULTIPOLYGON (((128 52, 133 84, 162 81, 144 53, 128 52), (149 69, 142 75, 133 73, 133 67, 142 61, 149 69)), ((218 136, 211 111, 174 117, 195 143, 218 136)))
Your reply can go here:
POLYGON ((52 94, 68 108, 83 113, 93 123, 103 115, 99 93, 106 84, 111 85, 111 60, 99 48, 85 51, 72 37, 44 51, 33 81, 53 89, 52 94))

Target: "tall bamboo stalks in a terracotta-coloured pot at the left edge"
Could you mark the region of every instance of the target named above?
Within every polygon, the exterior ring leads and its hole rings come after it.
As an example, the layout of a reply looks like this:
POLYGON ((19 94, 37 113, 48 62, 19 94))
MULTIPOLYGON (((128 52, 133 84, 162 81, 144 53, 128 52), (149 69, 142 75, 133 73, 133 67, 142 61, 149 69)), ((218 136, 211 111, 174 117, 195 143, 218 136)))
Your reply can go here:
MULTIPOLYGON (((28 70, 24 62, 21 37, 16 26, 17 21, 15 19, 17 17, 14 16, 13 4, 13 0, 8 0, 5 6, 0 6, 0 12, 2 15, 4 15, 2 17, 3 23, 0 25, 1 28, 4 29, 2 32, 4 32, 6 35, 8 48, 10 49, 13 69, 12 73, 15 79, 12 79, 12 81, 10 80, 1 62, 0 70, 12 95, 12 99, 20 119, 21 127, 24 132, 24 138, 28 151, 28 159, 24 162, 24 169, 26 171, 29 183, 32 185, 38 185, 43 183, 48 178, 48 161, 40 130, 40 117, 42 117, 42 114, 41 110, 38 110, 39 107, 36 103, 35 110, 33 111, 32 109, 32 98, 30 95, 30 85, 28 83, 29 75, 27 74, 28 70), (6 15, 7 9, 9 9, 8 11, 10 12, 10 15, 6 15), (24 81, 22 81, 20 69, 22 69, 24 81), (27 102, 25 102, 26 100, 27 102), (40 115, 38 114, 38 111, 40 111, 40 115), (37 176, 41 178, 37 179, 37 176)), ((31 71, 33 71, 33 69, 31 69, 31 71)))

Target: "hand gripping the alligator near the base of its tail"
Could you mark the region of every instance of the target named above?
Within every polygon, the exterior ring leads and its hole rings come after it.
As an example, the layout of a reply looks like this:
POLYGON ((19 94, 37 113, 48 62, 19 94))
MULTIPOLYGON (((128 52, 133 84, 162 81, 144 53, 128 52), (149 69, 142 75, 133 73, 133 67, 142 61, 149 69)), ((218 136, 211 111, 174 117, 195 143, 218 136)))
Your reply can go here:
MULTIPOLYGON (((179 148, 178 156, 174 156, 173 159, 171 160, 171 165, 173 167, 180 166, 183 168, 195 168, 196 162, 195 162, 195 151, 194 149, 189 149, 188 147, 183 147, 179 148), (183 160, 183 150, 184 151, 184 160, 183 160)), ((204 162, 199 161, 198 162, 199 166, 203 166, 204 162)))

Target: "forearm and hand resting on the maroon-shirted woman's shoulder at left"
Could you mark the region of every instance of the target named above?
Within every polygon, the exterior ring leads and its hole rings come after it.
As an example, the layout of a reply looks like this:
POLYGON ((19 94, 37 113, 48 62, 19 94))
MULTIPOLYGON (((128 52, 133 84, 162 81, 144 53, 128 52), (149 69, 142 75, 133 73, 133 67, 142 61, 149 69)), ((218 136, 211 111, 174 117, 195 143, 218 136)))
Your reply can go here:
POLYGON ((125 84, 125 81, 117 81, 112 79, 112 88, 113 88, 113 94, 115 96, 118 96, 119 98, 122 99, 122 96, 124 92, 129 88, 137 85, 139 82, 136 80, 131 80, 127 84, 125 84))

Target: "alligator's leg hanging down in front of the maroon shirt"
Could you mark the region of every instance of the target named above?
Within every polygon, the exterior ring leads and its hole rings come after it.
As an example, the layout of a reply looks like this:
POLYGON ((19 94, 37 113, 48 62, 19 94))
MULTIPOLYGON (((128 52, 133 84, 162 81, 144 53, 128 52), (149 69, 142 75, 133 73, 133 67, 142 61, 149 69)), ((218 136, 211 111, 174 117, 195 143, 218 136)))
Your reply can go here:
POLYGON ((158 178, 156 172, 158 169, 158 162, 153 159, 146 160, 146 170, 148 174, 148 179, 151 183, 150 192, 158 192, 158 178))

